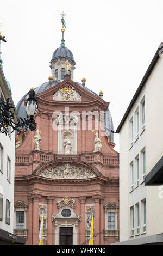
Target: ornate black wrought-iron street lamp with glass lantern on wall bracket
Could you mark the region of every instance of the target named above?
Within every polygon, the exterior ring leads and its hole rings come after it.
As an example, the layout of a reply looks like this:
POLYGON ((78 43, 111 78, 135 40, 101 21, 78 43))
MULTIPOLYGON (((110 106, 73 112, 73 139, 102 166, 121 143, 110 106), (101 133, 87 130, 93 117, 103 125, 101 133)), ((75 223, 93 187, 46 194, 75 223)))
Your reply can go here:
MULTIPOLYGON (((36 93, 33 88, 30 89, 28 93, 29 97, 27 99, 27 106, 26 106, 26 112, 27 112, 27 119, 26 118, 19 118, 18 123, 16 124, 14 122, 14 113, 12 110, 14 107, 12 107, 10 103, 10 99, 8 98, 7 101, 0 100, 0 132, 7 133, 9 132, 9 127, 12 127, 12 132, 15 130, 20 132, 21 130, 24 130, 25 132, 30 129, 31 131, 36 130, 37 124, 35 123, 34 117, 37 114, 37 99, 36 99, 36 93)), ((14 109, 15 110, 15 109, 14 109)))

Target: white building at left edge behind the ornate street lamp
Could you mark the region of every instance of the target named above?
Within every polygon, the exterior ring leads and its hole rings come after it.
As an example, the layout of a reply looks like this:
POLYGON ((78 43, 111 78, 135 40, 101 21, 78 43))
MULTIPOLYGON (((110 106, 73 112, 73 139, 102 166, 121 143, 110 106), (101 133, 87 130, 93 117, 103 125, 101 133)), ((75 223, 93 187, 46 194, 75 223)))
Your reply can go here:
MULTIPOLYGON (((10 103, 15 108, 11 97, 10 84, 3 74, 0 51, 0 100, 6 101, 8 98, 10 98, 10 103)), ((13 113, 14 121, 17 123, 17 112, 14 111, 13 113)), ((15 132, 11 133, 10 127, 7 135, 0 132, 0 245, 10 245, 12 243, 25 242, 24 239, 13 234, 14 170, 15 132)))

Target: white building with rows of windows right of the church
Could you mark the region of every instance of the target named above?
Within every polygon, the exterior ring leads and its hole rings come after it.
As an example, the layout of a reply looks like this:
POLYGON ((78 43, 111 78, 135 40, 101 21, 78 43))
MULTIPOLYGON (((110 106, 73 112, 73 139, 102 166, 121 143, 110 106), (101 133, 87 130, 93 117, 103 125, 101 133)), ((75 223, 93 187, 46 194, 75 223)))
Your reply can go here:
POLYGON ((120 242, 116 245, 163 244, 163 186, 158 186, 163 182, 156 180, 159 161, 163 162, 162 45, 116 130, 120 134, 120 242))

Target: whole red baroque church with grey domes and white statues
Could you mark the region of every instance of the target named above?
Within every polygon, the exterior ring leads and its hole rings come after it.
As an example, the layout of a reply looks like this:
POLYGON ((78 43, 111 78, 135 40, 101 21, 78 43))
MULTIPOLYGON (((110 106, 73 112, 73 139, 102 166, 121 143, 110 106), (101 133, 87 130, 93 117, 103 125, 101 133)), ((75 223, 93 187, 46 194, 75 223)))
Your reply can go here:
MULTIPOLYGON (((109 102, 73 81, 72 52, 61 46, 52 56, 52 76, 35 88, 37 131, 16 135, 14 234, 26 245, 88 245, 119 239, 119 155, 109 102)), ((17 104, 26 117, 27 94, 17 104)))

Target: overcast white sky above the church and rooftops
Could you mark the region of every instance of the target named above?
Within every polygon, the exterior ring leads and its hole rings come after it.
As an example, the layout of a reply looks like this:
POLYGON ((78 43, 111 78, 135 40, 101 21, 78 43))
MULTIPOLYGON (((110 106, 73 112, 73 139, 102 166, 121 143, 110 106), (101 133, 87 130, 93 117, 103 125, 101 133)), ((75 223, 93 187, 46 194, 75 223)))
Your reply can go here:
MULTIPOLYGON (((18 100, 51 75, 49 62, 61 43, 74 56, 74 81, 104 92, 116 131, 131 98, 163 41, 163 1, 0 0, 3 71, 18 100)), ((118 135, 114 137, 119 151, 118 135)))

